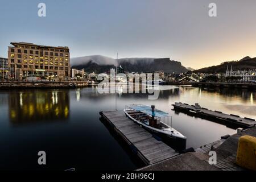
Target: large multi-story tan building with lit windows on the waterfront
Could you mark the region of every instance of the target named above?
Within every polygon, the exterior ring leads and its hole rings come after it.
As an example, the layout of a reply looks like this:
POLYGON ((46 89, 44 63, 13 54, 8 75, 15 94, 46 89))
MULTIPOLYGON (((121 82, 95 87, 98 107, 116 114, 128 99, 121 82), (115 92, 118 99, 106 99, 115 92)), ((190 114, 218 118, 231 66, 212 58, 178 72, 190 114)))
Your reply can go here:
POLYGON ((32 43, 14 43, 8 50, 9 78, 24 80, 43 77, 64 81, 70 78, 68 47, 39 46, 32 43))

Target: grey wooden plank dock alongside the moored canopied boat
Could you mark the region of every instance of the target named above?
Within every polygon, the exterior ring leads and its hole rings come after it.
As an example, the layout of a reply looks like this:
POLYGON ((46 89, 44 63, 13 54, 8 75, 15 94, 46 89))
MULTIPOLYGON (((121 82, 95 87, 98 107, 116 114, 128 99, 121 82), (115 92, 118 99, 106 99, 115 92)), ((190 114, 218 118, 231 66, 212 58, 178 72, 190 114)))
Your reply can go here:
POLYGON ((100 115, 147 165, 179 155, 167 144, 131 121, 123 111, 101 111, 100 115))

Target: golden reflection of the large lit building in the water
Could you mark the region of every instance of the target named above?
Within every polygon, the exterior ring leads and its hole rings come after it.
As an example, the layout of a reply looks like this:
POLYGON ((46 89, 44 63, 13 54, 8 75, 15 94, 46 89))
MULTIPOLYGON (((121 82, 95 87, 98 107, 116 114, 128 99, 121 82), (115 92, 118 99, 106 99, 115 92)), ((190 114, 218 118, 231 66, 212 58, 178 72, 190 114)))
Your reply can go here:
POLYGON ((69 94, 57 90, 10 92, 9 120, 13 125, 65 121, 69 117, 69 94))

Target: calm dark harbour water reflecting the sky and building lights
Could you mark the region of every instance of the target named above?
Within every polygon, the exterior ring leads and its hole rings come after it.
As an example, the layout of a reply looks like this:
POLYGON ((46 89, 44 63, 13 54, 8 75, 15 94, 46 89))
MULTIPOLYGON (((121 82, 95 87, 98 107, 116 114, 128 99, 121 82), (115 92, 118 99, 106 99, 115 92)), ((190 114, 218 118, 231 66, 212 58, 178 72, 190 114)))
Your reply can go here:
POLYGON ((155 105, 170 113, 172 126, 187 136, 187 147, 199 147, 236 130, 173 111, 185 102, 224 113, 256 118, 255 92, 161 86, 158 100, 146 94, 99 94, 96 87, 72 90, 0 91, 0 169, 125 170, 142 167, 100 121, 101 110, 126 104, 155 105), (38 165, 38 151, 47 165, 38 165))

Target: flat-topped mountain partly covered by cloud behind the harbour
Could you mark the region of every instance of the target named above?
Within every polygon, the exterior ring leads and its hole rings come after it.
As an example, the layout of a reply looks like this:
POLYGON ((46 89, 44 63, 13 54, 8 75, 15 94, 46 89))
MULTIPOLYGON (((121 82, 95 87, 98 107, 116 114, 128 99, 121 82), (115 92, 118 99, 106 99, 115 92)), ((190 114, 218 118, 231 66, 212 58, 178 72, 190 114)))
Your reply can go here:
POLYGON ((183 67, 180 62, 170 60, 170 58, 122 58, 112 59, 110 57, 95 55, 76 57, 71 59, 72 68, 82 69, 86 72, 104 73, 109 72, 110 68, 121 65, 128 72, 154 72, 163 71, 165 73, 182 73, 188 69, 183 67))

